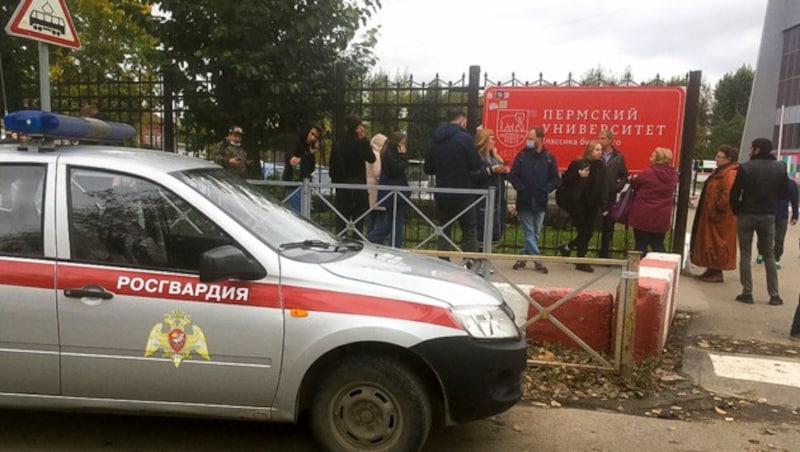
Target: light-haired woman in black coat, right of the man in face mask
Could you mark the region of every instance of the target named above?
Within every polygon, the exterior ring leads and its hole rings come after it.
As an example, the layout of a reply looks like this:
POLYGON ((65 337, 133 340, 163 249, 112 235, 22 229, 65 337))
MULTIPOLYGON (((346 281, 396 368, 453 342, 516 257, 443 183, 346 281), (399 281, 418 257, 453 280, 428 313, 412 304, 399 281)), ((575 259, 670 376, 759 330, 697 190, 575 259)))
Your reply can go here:
MULTIPOLYGON (((601 209, 608 205, 608 184, 605 164, 602 161, 603 145, 599 141, 586 144, 583 155, 573 160, 561 178, 561 186, 556 191, 558 206, 569 213, 577 235, 569 243, 562 245, 562 256, 569 256, 574 249, 578 257, 586 256, 589 240, 594 233, 597 214, 606 215, 601 209)), ((576 270, 593 272, 589 264, 576 264, 576 270)))

